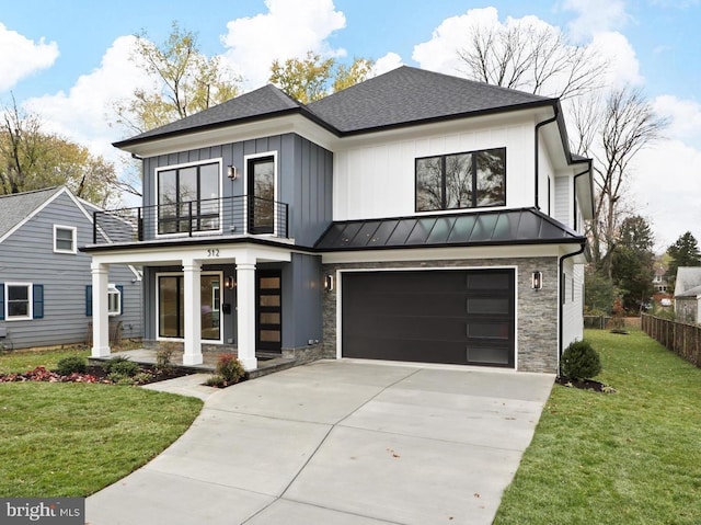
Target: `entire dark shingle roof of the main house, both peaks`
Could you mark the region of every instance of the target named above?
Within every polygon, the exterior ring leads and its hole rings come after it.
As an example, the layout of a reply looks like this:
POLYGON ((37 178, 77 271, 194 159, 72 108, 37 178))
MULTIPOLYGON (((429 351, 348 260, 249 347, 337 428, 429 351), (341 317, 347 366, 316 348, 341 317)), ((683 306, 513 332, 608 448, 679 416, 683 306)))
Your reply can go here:
POLYGON ((119 148, 285 113, 300 113, 342 136, 554 103, 556 99, 402 66, 309 105, 268 84, 114 146, 119 148))

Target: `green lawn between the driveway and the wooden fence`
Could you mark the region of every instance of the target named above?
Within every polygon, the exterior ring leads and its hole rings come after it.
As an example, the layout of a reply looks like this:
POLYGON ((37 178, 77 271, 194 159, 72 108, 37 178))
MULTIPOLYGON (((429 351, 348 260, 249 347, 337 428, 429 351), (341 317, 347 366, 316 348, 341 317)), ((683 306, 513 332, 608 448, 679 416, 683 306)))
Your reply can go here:
POLYGON ((585 338, 618 392, 554 386, 494 523, 701 523, 701 369, 639 330, 585 338))

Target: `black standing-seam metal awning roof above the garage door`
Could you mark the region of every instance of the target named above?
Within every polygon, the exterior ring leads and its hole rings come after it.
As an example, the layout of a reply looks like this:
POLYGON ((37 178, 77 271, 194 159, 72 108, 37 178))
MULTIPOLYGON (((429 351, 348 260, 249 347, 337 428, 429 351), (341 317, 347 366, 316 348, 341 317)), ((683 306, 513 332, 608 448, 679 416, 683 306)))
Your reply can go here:
POLYGON ((535 208, 333 222, 315 249, 583 243, 585 238, 535 208))

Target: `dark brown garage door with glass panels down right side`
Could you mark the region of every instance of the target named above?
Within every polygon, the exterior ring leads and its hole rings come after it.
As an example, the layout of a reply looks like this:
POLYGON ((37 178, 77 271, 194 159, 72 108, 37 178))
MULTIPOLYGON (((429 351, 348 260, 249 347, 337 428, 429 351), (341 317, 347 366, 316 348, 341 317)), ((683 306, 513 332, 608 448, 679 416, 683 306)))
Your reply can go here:
POLYGON ((344 357, 514 367, 514 271, 344 273, 344 357))

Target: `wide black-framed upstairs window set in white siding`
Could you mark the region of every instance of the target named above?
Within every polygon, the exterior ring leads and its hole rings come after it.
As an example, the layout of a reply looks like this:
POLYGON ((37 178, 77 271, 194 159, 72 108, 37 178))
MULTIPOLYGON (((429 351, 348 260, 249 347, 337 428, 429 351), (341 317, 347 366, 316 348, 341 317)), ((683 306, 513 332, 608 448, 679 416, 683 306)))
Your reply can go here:
POLYGON ((416 159, 416 212, 506 205, 506 148, 416 159))

